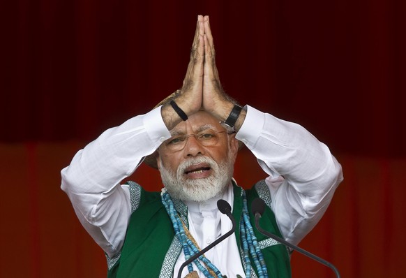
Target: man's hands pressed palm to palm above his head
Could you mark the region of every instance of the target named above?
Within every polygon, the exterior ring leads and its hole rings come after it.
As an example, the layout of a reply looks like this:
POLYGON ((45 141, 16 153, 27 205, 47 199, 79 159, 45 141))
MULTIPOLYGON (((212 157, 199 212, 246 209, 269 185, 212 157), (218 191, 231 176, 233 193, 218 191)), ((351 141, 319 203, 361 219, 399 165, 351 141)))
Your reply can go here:
MULTIPOLYGON (((197 17, 186 76, 181 89, 170 99, 188 116, 205 110, 220 120, 226 119, 234 106, 235 101, 223 92, 220 83, 208 15, 197 17)), ((170 105, 164 105, 161 112, 168 129, 180 122, 170 105)))

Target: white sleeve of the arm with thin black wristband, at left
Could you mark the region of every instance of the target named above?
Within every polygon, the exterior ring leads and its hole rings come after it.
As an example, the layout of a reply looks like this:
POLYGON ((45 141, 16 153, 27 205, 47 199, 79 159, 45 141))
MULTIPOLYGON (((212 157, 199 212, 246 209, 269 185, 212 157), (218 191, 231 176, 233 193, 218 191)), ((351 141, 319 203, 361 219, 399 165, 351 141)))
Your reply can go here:
POLYGON ((61 189, 84 228, 110 257, 122 247, 131 214, 128 186, 120 182, 167 138, 170 133, 159 107, 108 129, 61 170, 61 189))

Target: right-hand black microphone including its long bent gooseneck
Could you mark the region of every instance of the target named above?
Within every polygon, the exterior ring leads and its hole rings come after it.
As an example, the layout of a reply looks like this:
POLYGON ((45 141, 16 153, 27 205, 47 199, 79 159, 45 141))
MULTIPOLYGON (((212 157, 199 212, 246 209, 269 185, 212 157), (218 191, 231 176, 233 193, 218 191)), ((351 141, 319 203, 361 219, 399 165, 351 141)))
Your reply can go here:
POLYGON ((271 237, 273 240, 276 240, 276 241, 282 243, 283 245, 290 247, 290 248, 298 251, 299 253, 301 253, 305 256, 308 256, 309 258, 313 258, 313 260, 315 260, 319 263, 322 263, 323 265, 328 266, 336 274, 336 277, 340 278, 340 273, 338 272, 337 268, 332 263, 329 263, 328 261, 324 261, 322 258, 319 258, 319 257, 315 256, 314 254, 311 254, 310 252, 308 252, 304 249, 301 249, 300 247, 297 247, 296 245, 291 244, 290 242, 287 242, 286 240, 283 240, 283 238, 278 237, 277 235, 273 235, 273 233, 269 233, 269 232, 265 231, 263 228, 261 228, 260 218, 262 217, 262 214, 265 211, 264 200, 262 200, 261 198, 255 198, 255 200, 253 200, 253 203, 251 204, 251 211, 255 215, 255 228, 257 228, 257 230, 260 231, 260 233, 262 233, 262 235, 271 237))

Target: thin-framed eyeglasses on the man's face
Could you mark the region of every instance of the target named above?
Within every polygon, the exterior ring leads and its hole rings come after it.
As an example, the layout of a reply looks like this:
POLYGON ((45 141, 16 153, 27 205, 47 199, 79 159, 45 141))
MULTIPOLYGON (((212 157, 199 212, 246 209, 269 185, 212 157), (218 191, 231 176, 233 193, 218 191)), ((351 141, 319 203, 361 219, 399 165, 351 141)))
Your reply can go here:
POLYGON ((213 130, 205 130, 199 133, 190 133, 184 135, 176 135, 172 136, 168 140, 164 142, 167 149, 171 152, 179 152, 186 146, 186 142, 188 142, 188 138, 190 136, 194 136, 195 139, 200 143, 200 145, 204 147, 211 147, 218 143, 220 139, 220 133, 227 133, 226 131, 213 131, 213 130))

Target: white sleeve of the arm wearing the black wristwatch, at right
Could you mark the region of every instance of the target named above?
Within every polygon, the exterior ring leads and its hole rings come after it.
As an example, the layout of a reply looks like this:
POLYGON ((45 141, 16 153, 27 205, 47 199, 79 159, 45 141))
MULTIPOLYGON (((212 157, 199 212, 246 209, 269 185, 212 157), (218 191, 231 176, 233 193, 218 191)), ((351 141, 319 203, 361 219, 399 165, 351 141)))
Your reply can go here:
POLYGON ((298 244, 326 211, 343 180, 341 166, 322 142, 299 124, 246 106, 236 134, 269 175, 271 209, 283 237, 298 244))

